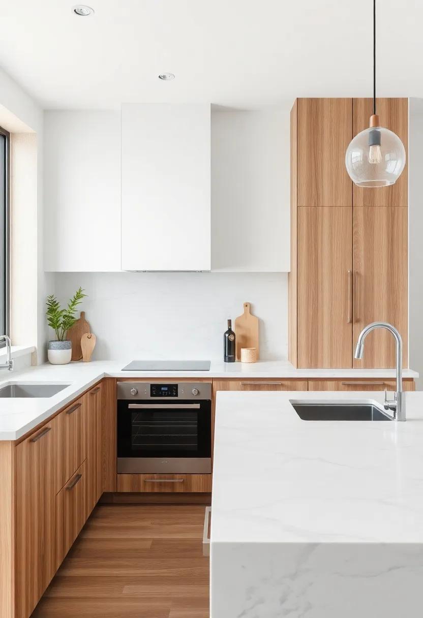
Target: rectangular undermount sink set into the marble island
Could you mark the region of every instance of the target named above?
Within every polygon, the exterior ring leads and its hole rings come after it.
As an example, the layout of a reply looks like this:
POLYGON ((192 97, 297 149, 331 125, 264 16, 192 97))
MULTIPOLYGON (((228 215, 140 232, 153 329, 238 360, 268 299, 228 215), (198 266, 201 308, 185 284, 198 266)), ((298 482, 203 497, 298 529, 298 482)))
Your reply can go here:
POLYGON ((298 402, 291 400, 297 415, 303 421, 391 421, 375 404, 340 402, 298 402))

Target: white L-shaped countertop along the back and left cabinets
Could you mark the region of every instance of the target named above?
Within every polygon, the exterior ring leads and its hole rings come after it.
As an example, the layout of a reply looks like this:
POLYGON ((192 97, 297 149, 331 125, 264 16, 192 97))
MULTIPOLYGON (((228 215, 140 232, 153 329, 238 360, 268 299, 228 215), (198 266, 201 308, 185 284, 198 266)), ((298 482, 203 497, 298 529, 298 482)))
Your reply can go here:
MULTIPOLYGON (((111 378, 394 378, 394 370, 328 370, 296 369, 287 361, 258 363, 212 362, 210 371, 121 371, 128 359, 122 361, 93 361, 69 365, 45 365, 24 371, 0 373, 0 388, 11 382, 69 384, 53 397, 40 399, 0 398, 0 440, 15 440, 24 436, 42 421, 78 397, 83 391, 104 377, 111 378)), ((416 371, 404 370, 404 378, 416 378, 416 371)))

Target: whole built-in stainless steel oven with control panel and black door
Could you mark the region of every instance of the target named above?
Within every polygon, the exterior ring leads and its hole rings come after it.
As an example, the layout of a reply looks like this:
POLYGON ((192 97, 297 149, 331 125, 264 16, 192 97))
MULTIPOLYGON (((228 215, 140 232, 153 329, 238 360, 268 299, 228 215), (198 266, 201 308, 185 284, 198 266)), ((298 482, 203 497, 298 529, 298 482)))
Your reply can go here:
POLYGON ((212 472, 212 384, 117 383, 117 472, 212 472))

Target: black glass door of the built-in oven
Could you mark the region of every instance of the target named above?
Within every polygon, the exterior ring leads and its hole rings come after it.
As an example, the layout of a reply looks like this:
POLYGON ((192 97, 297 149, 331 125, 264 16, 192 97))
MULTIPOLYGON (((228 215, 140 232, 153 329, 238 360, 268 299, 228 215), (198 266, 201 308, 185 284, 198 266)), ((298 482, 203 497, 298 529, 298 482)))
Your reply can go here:
POLYGON ((210 457, 211 402, 117 404, 118 457, 210 457))

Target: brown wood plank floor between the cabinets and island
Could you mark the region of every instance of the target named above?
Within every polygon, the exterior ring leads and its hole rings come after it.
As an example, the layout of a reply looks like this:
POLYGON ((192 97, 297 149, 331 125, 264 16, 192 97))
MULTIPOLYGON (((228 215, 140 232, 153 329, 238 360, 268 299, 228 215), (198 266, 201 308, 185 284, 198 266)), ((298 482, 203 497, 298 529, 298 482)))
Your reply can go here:
POLYGON ((32 618, 208 618, 204 510, 97 506, 32 618))

